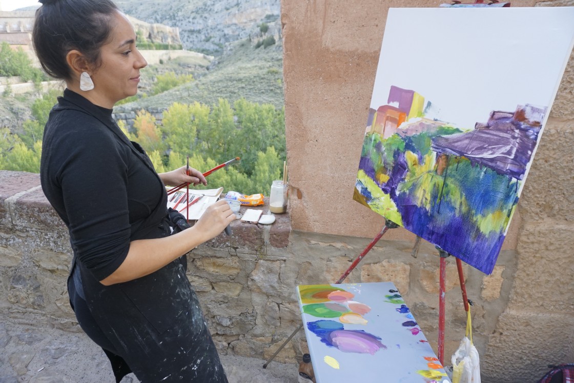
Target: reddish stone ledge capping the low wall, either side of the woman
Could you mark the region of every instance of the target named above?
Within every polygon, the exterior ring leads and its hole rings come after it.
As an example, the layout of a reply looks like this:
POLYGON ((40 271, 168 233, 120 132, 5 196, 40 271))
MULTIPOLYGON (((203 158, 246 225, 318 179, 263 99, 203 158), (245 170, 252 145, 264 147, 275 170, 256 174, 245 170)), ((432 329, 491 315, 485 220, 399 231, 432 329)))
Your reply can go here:
MULTIPOLYGON (((269 199, 264 202, 262 206, 242 206, 239 212, 243 214, 247 208, 253 208, 265 214, 269 210, 269 199)), ((0 223, 41 230, 63 227, 60 217, 42 192, 40 175, 13 171, 0 171, 0 223)), ((231 223, 231 231, 231 236, 220 234, 205 246, 227 249, 231 253, 266 256, 267 252, 275 253, 274 248, 288 246, 290 216, 289 213, 278 214, 272 225, 255 225, 237 219, 231 223)))

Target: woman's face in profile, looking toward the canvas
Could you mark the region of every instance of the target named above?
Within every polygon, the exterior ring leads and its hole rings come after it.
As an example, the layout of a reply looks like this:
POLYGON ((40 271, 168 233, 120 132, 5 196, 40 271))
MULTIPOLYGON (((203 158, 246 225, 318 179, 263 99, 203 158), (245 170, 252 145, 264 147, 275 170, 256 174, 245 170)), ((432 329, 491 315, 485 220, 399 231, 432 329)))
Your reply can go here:
POLYGON ((138 91, 139 69, 148 62, 135 48, 135 32, 127 18, 117 12, 110 42, 100 49, 101 65, 92 73, 92 102, 111 109, 116 102, 138 91))

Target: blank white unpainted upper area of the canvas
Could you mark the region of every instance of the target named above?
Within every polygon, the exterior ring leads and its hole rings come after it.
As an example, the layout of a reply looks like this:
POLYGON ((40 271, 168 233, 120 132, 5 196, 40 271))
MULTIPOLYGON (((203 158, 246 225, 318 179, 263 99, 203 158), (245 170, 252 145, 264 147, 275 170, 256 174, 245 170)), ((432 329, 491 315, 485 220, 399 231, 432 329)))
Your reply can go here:
POLYGON ((371 107, 390 86, 433 105, 426 117, 473 128, 492 110, 552 105, 574 40, 574 7, 390 9, 371 107))

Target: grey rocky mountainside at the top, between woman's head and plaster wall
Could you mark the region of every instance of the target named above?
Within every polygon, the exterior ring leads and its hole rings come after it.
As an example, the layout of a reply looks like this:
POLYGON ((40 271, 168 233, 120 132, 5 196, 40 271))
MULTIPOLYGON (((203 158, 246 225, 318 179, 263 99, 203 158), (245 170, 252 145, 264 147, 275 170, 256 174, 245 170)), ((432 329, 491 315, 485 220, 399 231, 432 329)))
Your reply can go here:
POLYGON ((116 0, 139 20, 180 29, 185 49, 218 54, 231 41, 249 37, 261 22, 280 33, 280 0, 116 0))

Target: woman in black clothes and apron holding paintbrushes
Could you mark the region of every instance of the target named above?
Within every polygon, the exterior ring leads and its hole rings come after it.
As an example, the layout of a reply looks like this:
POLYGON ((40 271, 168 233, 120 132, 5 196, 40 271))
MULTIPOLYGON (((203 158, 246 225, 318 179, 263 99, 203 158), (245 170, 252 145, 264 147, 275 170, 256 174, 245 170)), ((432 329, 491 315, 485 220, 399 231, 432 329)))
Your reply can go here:
POLYGON ((68 227, 68 292, 80 326, 110 358, 119 382, 227 382, 184 254, 234 220, 226 202, 170 235, 164 185, 207 184, 196 169, 157 174, 112 118, 135 95, 147 63, 110 0, 40 0, 33 43, 67 88, 44 130, 42 189, 68 227))

